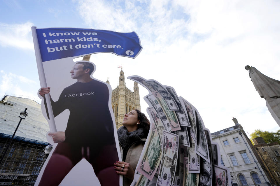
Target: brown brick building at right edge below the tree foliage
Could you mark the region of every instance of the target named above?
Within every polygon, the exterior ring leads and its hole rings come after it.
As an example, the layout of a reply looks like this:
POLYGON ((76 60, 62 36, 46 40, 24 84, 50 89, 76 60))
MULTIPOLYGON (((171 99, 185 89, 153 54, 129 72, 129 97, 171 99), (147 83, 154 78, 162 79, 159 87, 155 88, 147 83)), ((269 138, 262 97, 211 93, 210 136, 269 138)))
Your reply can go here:
POLYGON ((267 144, 262 137, 253 139, 254 148, 261 158, 274 184, 280 186, 280 145, 277 142, 267 144))

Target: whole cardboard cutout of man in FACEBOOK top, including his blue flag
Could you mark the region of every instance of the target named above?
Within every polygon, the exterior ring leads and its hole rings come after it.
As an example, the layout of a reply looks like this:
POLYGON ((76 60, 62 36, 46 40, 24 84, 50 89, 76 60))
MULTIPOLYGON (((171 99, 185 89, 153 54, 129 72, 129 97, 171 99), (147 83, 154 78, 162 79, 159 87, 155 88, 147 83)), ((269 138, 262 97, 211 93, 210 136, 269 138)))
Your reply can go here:
POLYGON ((32 35, 38 94, 50 126, 47 138, 55 146, 35 185, 122 185, 113 168, 121 156, 111 86, 93 78, 92 62, 73 59, 101 52, 135 58, 142 49, 139 37, 134 32, 36 27, 32 35))

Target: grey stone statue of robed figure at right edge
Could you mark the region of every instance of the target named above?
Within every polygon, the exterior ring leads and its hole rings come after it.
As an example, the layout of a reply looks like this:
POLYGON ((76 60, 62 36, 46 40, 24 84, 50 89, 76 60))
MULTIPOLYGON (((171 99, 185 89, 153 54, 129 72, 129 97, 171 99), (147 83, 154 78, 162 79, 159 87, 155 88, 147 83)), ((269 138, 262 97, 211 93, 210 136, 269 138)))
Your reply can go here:
POLYGON ((265 76, 255 67, 247 65, 245 69, 249 71, 255 89, 265 99, 269 112, 280 126, 280 81, 265 76))

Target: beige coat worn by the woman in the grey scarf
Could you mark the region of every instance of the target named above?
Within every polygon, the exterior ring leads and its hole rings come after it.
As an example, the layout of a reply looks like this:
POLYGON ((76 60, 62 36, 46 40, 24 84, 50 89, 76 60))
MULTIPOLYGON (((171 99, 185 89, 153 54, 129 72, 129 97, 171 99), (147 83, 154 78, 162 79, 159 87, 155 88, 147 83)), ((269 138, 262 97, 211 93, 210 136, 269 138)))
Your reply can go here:
MULTIPOLYGON (((142 149, 144 147, 144 144, 146 142, 146 138, 142 138, 140 141, 138 142, 134 142, 132 145, 130 145, 128 151, 127 151, 127 155, 124 159, 123 157, 123 149, 122 146, 120 144, 120 153, 122 156, 122 161, 130 163, 132 169, 135 171, 137 163, 139 161, 142 149)), ((129 186, 132 183, 133 180, 129 180, 128 178, 125 178, 125 176, 123 176, 123 186, 129 186)))

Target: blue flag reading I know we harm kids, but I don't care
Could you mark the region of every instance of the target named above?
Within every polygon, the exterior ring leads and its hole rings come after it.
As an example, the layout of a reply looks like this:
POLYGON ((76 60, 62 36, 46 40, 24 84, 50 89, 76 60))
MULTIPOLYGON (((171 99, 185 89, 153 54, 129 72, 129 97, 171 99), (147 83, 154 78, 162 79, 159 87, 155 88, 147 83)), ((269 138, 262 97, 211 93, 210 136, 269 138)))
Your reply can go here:
POLYGON ((101 52, 135 58, 142 49, 135 32, 120 33, 83 28, 38 28, 36 33, 42 62, 101 52))

